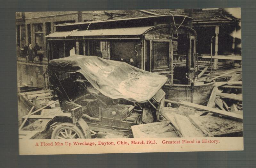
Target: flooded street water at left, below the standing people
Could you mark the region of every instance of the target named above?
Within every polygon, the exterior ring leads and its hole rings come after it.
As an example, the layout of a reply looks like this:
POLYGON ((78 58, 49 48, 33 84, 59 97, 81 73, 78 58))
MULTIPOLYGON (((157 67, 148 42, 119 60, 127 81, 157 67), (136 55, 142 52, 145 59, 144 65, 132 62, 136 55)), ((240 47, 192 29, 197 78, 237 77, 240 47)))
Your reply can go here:
POLYGON ((18 63, 18 85, 28 85, 44 87, 43 74, 46 71, 46 65, 33 65, 28 63, 18 63))

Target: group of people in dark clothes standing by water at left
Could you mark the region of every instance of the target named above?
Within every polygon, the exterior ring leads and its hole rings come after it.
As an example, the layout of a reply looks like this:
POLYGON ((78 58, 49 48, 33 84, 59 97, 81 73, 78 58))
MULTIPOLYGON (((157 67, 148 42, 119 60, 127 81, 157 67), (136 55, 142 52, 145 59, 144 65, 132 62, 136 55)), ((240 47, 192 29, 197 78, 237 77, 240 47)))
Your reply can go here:
POLYGON ((41 50, 41 47, 39 47, 36 43, 35 47, 32 47, 32 44, 29 44, 29 46, 24 46, 24 54, 26 57, 26 61, 28 62, 42 62, 43 61, 43 55, 38 54, 38 51, 41 50))

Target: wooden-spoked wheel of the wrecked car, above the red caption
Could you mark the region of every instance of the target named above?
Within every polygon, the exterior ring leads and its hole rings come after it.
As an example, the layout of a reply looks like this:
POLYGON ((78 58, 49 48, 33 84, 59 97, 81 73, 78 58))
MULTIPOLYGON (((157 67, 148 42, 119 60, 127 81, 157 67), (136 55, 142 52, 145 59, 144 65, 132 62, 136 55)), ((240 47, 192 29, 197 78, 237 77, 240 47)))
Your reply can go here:
POLYGON ((84 138, 83 132, 75 124, 61 123, 52 132, 52 139, 84 138))

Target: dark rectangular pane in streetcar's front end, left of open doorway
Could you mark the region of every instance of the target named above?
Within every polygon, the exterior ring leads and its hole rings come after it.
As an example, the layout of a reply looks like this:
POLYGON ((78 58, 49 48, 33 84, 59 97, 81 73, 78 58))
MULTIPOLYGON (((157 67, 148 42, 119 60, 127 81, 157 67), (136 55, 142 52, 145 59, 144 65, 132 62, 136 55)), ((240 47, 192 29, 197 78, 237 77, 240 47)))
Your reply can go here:
POLYGON ((170 68, 169 46, 166 41, 153 42, 153 70, 170 68))

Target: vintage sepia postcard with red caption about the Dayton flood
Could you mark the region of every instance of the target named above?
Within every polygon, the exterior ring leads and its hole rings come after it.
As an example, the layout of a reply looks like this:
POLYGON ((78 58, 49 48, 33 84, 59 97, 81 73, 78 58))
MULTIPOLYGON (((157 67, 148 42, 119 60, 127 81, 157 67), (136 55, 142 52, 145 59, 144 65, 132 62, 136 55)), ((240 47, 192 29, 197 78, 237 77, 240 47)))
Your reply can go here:
POLYGON ((20 155, 243 150, 240 13, 16 12, 20 155))

